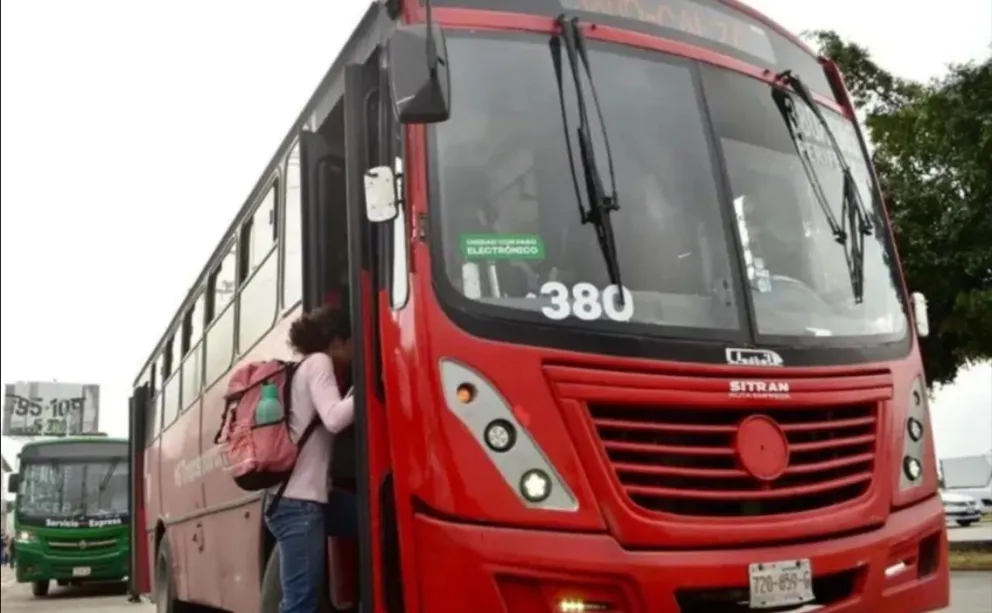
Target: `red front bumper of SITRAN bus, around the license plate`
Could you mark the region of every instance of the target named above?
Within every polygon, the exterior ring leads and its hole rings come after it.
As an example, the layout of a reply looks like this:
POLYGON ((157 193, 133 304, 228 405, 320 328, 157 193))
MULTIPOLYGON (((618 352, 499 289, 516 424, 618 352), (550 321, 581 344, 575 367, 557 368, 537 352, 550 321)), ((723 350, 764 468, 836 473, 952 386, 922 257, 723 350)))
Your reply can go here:
MULTIPOLYGON (((629 551, 603 534, 494 528, 415 518, 417 579, 429 613, 733 613, 748 565, 809 559, 818 613, 922 613, 949 601, 937 497, 880 529, 781 547, 629 551)), ((744 601, 743 606, 740 601, 744 601)))

